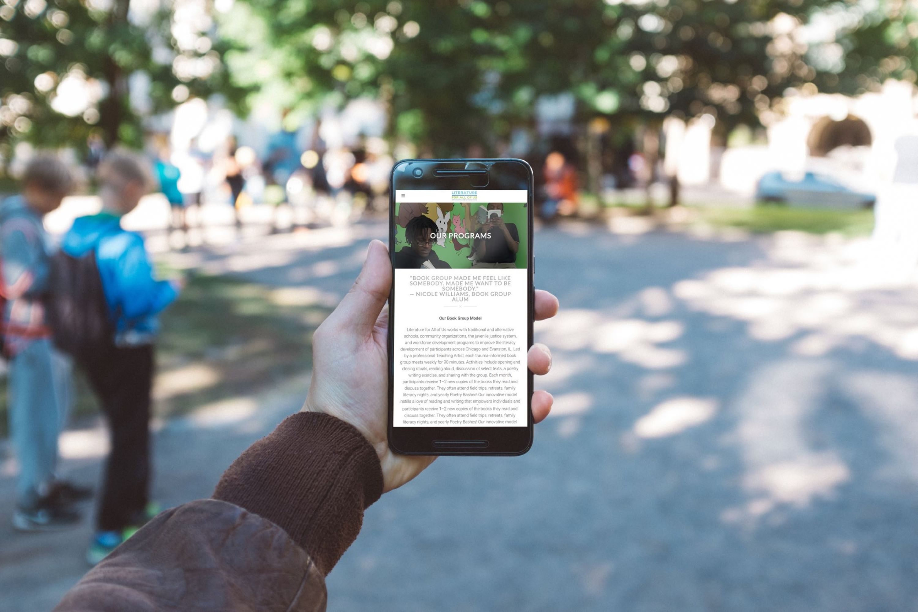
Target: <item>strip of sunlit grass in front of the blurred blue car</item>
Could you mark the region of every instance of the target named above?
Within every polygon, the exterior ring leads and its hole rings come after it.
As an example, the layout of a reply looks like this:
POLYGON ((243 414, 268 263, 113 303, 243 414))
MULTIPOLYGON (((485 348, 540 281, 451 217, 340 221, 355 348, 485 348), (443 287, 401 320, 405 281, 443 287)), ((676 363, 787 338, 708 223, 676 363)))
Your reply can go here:
POLYGON ((811 234, 838 232, 845 236, 867 236, 873 230, 873 211, 795 208, 761 205, 752 208, 692 207, 697 222, 715 228, 741 228, 753 233, 796 229, 811 234))

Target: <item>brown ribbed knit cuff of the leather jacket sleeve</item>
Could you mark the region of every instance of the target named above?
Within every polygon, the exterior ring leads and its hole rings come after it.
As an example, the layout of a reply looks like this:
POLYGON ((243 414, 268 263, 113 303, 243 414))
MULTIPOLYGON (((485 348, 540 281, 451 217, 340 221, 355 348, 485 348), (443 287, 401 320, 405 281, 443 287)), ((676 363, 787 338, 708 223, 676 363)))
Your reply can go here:
POLYGON ((243 452, 213 496, 284 529, 328 574, 382 493, 382 468, 364 436, 338 418, 301 412, 243 452))

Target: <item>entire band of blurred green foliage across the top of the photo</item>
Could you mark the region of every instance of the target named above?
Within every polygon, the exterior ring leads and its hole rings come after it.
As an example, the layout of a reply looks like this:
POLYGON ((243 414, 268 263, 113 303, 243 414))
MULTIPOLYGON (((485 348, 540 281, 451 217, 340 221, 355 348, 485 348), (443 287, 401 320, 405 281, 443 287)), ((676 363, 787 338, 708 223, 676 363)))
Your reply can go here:
POLYGON ((858 94, 913 82, 918 64, 918 8, 902 0, 238 0, 194 18, 185 6, 0 0, 0 156, 95 129, 139 145, 144 117, 215 92, 291 118, 375 97, 391 137, 443 155, 493 149, 559 93, 580 124, 707 113, 729 131, 778 110, 789 87, 858 94), (68 78, 94 99, 62 92, 68 78))

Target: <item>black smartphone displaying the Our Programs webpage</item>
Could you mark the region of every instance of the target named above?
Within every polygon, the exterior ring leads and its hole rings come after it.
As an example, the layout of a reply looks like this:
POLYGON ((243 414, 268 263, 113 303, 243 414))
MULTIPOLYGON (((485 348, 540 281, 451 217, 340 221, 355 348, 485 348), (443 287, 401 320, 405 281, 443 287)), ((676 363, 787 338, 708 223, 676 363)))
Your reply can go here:
POLYGON ((529 451, 532 168, 403 160, 390 194, 389 447, 529 451))

